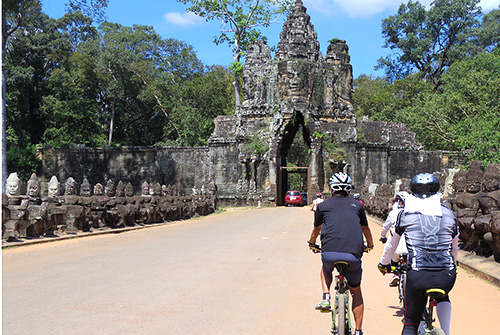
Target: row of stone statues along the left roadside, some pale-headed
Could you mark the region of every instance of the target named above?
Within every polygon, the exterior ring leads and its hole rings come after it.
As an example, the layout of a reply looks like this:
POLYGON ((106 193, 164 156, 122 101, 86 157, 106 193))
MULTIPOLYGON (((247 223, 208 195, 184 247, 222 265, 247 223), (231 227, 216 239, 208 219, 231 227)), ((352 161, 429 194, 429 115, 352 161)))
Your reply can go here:
POLYGON ((188 219, 216 210, 217 187, 211 180, 192 195, 184 195, 176 185, 144 181, 140 195, 132 184, 111 181, 92 185, 84 179, 78 185, 70 177, 60 195, 60 183, 53 176, 47 183, 47 196, 41 196, 41 183, 32 174, 26 195, 20 194, 21 180, 11 173, 2 194, 2 238, 16 241, 40 236, 124 228, 158 222, 188 219))

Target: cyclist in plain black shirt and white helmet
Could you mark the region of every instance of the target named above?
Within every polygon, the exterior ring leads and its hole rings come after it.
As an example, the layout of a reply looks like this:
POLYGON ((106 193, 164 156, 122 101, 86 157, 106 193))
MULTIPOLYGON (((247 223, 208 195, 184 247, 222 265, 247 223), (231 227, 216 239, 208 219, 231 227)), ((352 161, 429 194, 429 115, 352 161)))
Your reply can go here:
POLYGON ((363 235, 368 250, 373 248, 373 238, 363 205, 359 200, 348 197, 352 189, 351 178, 339 172, 330 178, 329 184, 332 197, 318 205, 314 215, 314 228, 308 241, 313 249, 317 237, 321 234, 323 300, 316 309, 322 311, 331 309, 330 287, 333 282, 333 264, 337 261, 348 262, 349 268, 345 277, 352 294, 355 335, 361 335, 364 312, 361 293, 361 257, 365 250, 363 235))

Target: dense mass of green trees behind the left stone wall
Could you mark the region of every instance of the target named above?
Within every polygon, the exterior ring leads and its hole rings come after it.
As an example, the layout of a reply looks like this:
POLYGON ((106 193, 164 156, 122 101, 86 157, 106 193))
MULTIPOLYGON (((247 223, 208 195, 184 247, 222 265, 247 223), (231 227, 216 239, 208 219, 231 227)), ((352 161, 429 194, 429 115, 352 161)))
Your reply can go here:
POLYGON ((232 74, 192 46, 148 26, 95 25, 75 7, 104 0, 72 1, 57 20, 30 3, 6 44, 9 170, 35 172, 36 145, 205 145, 215 117, 233 113, 232 74))

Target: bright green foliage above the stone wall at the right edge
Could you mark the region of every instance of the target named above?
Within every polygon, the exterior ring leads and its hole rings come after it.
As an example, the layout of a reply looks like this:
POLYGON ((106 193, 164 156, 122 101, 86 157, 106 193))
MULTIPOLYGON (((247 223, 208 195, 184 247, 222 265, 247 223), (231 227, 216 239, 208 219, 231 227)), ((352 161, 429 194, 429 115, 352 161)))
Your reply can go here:
POLYGON ((419 75, 383 82, 355 80, 358 117, 405 123, 429 150, 465 151, 471 160, 500 162, 500 49, 456 61, 437 91, 419 75))

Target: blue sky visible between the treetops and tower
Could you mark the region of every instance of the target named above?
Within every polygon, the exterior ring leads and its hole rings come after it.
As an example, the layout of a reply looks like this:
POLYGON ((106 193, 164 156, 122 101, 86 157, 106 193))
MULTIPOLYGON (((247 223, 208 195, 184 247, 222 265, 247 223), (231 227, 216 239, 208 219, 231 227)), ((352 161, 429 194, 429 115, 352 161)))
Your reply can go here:
MULTIPOLYGON (((67 0, 42 0, 43 11, 54 18, 64 15, 67 0)), ((389 54, 384 48, 381 23, 397 12, 401 0, 303 0, 318 34, 321 52, 326 53, 332 38, 346 40, 349 45, 354 78, 360 74, 382 76, 374 70, 377 59, 389 54)), ((406 2, 406 1, 404 1, 406 2)), ((421 0, 428 6, 431 0, 421 0)), ((483 12, 497 9, 500 0, 481 0, 483 12)), ((133 24, 153 26, 163 38, 175 38, 193 46, 199 59, 206 65, 229 65, 232 60, 229 45, 215 45, 214 36, 221 29, 219 21, 206 22, 191 13, 187 5, 176 0, 109 0, 107 20, 125 26, 133 24)), ((281 22, 283 22, 282 18, 281 22)), ((268 44, 279 42, 282 23, 263 30, 268 44)))

